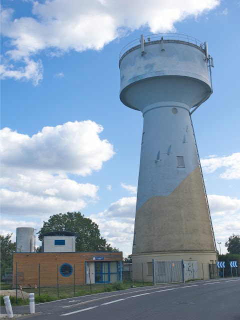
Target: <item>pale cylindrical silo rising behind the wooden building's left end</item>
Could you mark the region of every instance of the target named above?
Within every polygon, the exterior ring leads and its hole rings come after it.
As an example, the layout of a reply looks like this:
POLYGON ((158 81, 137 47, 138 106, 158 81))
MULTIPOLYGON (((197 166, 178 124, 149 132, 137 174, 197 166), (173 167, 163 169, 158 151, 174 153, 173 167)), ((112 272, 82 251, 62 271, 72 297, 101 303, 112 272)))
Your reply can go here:
POLYGON ((16 228, 16 252, 34 252, 35 233, 34 228, 16 228))

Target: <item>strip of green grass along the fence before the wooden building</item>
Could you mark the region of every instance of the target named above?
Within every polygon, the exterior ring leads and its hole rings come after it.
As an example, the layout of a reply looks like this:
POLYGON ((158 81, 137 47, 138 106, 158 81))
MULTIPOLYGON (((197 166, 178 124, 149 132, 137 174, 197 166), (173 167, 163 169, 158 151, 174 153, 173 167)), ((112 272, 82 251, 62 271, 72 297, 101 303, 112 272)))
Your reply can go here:
MULTIPOLYGON (((152 282, 145 282, 144 286, 153 285, 152 282)), ((101 293, 101 292, 111 292, 116 290, 125 290, 130 287, 140 287, 142 286, 142 282, 130 282, 123 281, 122 283, 101 283, 101 284, 89 284, 87 285, 76 285, 75 286, 75 294, 74 294, 74 286, 59 286, 58 294, 57 287, 46 287, 40 288, 40 295, 38 295, 38 288, 22 288, 25 292, 34 292, 35 293, 35 303, 41 302, 49 302, 58 299, 65 299, 74 296, 81 296, 87 294, 101 293)), ((10 286, 11 289, 11 286, 10 286)), ((10 301, 12 305, 16 305, 16 297, 11 296, 10 301)), ((20 297, 17 298, 17 305, 26 305, 29 304, 29 299, 26 299, 26 302, 20 297)), ((1 305, 4 305, 3 296, 1 295, 1 305)))

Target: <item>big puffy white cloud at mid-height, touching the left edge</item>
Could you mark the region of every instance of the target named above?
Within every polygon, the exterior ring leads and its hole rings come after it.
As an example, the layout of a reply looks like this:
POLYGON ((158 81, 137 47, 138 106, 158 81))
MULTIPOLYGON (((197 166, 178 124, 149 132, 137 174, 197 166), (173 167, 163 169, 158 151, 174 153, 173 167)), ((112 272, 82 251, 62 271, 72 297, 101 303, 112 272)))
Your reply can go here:
POLYGON ((87 175, 99 170, 114 154, 113 146, 101 140, 103 127, 90 120, 45 126, 29 137, 9 128, 0 130, 1 163, 8 168, 38 169, 87 175))

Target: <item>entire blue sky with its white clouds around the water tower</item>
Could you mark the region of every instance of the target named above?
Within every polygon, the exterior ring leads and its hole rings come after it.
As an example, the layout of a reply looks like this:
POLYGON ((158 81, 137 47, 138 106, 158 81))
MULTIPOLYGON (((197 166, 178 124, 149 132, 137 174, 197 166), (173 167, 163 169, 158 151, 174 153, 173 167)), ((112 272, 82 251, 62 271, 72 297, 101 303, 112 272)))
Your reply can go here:
POLYGON ((142 115, 119 100, 140 34, 207 41, 213 94, 192 115, 216 241, 240 233, 239 0, 2 0, 1 234, 81 211, 131 253, 142 115))

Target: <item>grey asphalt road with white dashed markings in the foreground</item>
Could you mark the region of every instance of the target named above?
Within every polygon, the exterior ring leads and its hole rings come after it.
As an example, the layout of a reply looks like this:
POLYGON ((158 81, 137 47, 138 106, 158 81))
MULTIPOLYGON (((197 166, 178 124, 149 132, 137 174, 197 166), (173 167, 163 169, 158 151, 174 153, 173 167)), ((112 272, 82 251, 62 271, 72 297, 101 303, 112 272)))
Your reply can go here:
MULTIPOLYGON (((14 313, 28 307, 12 307, 14 313)), ((240 320, 240 279, 194 281, 35 305, 32 320, 240 320)))

